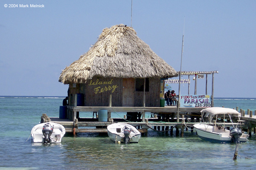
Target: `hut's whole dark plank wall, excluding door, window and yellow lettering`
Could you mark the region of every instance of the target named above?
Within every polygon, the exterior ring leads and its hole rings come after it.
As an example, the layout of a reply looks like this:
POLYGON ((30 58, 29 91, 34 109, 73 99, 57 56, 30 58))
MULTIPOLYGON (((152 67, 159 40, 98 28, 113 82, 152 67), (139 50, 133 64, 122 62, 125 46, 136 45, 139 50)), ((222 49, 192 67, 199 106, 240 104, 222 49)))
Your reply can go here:
MULTIPOLYGON (((112 106, 121 107, 122 106, 122 79, 119 78, 103 78, 103 77, 93 77, 92 80, 89 80, 85 84, 76 84, 76 87, 73 87, 73 84, 70 84, 70 96, 69 104, 73 105, 75 101, 75 94, 81 93, 84 94, 84 106, 108 106, 109 96, 112 96, 112 106), (111 84, 97 84, 99 82, 112 82, 111 84), (95 85, 93 85, 93 82, 95 85), (97 85, 96 85, 97 84, 97 85), (112 90, 103 91, 100 93, 96 91, 95 88, 100 87, 99 89, 108 88, 109 86, 116 85, 118 87, 112 93, 112 90)), ((135 81, 134 81, 135 82, 135 81)), ((134 84, 135 86, 135 84, 134 84)), ((149 91, 145 92, 145 106, 146 107, 160 107, 160 79, 158 78, 149 78, 149 91)), ((142 107, 143 106, 143 92, 134 93, 134 106, 142 107)))

